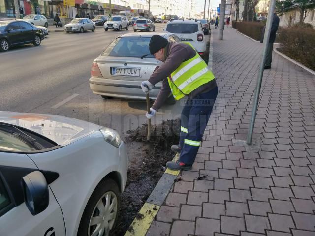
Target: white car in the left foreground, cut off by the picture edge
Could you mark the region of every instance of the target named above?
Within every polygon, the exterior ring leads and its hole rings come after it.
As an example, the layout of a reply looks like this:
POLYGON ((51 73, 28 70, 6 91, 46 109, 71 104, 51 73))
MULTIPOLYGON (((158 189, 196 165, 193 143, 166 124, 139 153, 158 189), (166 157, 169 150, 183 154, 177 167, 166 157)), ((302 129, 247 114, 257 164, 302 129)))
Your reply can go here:
POLYGON ((0 235, 111 235, 127 165, 112 129, 0 112, 0 235))

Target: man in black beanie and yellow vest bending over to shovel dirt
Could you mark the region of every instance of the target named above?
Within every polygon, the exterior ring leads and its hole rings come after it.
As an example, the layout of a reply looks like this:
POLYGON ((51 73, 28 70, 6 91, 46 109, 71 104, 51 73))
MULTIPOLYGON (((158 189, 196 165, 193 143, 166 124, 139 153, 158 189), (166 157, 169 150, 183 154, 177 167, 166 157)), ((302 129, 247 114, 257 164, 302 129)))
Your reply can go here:
POLYGON ((149 50, 164 63, 149 80, 141 83, 143 92, 147 94, 163 81, 158 97, 146 116, 153 118, 170 93, 175 100, 188 96, 181 115, 180 141, 171 147, 173 151, 180 152, 180 158, 176 162, 167 162, 166 166, 172 170, 190 170, 218 94, 215 77, 188 42, 168 42, 159 35, 153 35, 149 50))

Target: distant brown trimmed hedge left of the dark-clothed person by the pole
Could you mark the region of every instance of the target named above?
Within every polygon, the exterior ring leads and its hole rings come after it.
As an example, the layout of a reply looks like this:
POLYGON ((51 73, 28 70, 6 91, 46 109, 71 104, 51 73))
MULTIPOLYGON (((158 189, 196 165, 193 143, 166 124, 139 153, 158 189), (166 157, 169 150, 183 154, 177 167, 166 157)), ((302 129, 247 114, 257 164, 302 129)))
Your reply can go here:
POLYGON ((261 32, 264 28, 264 23, 262 22, 252 22, 252 21, 243 21, 237 22, 232 21, 232 27, 237 29, 239 32, 244 33, 245 35, 260 41, 261 32))

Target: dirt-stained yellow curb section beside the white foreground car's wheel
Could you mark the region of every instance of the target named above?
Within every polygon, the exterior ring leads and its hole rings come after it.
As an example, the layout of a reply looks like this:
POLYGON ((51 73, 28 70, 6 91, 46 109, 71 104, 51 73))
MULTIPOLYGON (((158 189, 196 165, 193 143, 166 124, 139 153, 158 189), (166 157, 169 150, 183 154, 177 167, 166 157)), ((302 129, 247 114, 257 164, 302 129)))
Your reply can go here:
POLYGON ((145 236, 159 208, 158 205, 145 203, 129 226, 125 236, 145 236))

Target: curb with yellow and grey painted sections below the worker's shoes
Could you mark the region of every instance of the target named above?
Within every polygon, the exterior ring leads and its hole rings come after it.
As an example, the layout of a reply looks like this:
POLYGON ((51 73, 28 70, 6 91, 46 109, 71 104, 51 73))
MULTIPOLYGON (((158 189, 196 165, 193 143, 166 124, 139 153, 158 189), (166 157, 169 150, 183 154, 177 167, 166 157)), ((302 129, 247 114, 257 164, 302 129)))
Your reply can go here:
MULTIPOLYGON (((178 160, 177 153, 173 161, 178 160)), ((145 236, 180 171, 166 169, 124 236, 145 236)))

